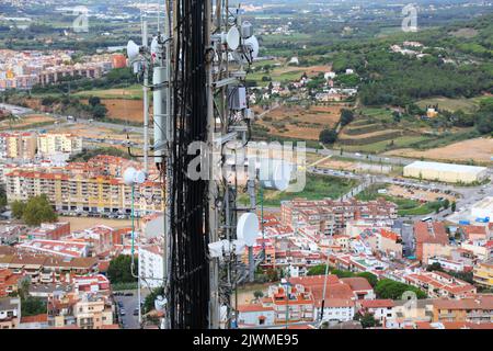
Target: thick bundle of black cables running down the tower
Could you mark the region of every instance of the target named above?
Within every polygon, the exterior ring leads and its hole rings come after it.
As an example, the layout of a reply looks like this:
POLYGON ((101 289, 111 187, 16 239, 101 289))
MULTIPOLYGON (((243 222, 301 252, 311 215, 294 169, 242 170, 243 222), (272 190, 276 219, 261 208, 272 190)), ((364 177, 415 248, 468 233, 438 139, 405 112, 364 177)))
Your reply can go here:
POLYGON ((169 326, 207 328, 207 182, 187 177, 193 141, 207 141, 206 25, 204 0, 175 0, 173 15, 173 143, 170 161, 169 326))

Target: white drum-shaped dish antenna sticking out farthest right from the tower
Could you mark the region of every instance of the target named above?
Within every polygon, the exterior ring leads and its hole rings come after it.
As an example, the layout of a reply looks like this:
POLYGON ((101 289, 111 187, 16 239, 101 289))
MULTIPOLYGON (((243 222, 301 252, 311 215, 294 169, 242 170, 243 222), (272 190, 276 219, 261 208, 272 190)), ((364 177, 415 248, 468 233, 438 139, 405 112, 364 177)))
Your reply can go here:
POLYGON ((293 167, 285 160, 262 159, 260 163, 260 181, 265 189, 286 191, 291 180, 293 167))

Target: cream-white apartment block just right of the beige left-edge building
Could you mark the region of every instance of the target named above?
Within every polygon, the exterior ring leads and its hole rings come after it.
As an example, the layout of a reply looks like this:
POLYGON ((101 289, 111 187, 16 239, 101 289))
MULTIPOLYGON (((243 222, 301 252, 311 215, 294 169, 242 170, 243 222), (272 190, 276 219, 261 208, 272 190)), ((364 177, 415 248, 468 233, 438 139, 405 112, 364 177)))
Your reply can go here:
POLYGON ((37 150, 44 157, 82 151, 82 138, 70 133, 45 133, 37 137, 37 150))

